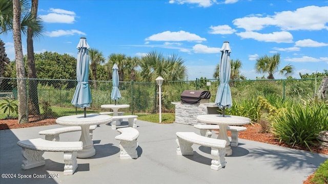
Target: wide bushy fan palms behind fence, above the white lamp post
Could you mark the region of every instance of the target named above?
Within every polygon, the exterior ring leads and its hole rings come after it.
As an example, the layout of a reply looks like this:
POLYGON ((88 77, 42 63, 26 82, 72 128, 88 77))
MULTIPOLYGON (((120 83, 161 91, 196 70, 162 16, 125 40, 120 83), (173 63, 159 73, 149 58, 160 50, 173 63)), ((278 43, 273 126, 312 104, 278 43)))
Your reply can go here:
POLYGON ((185 80, 187 67, 183 65, 184 62, 176 54, 164 57, 163 54, 152 51, 141 58, 141 80, 155 81, 158 76, 166 81, 185 80))

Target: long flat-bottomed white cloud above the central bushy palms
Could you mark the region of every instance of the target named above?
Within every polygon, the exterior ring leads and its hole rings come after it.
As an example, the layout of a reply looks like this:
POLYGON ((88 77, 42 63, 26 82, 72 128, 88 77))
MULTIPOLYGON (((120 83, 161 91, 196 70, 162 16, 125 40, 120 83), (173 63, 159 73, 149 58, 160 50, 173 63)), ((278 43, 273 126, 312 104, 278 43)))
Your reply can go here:
POLYGON ((154 34, 145 39, 146 41, 206 41, 206 38, 201 38, 200 36, 189 33, 186 31, 171 32, 165 31, 162 33, 154 34))

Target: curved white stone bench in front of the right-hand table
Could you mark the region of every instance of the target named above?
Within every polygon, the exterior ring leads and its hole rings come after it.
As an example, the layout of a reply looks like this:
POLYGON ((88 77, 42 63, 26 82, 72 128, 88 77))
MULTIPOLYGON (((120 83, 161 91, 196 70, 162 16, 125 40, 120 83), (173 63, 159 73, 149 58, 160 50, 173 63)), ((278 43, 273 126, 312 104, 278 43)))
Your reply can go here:
POLYGON ((211 147, 211 169, 219 170, 226 166, 226 140, 212 139, 210 137, 201 136, 195 132, 176 132, 176 143, 178 155, 193 155, 194 151, 191 147, 193 144, 211 147))

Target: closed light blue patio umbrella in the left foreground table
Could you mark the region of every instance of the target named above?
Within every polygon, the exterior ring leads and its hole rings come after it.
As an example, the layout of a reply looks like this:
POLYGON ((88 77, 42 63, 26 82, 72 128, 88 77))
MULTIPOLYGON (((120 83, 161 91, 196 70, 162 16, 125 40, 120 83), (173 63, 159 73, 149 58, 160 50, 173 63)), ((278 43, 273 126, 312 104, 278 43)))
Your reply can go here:
POLYGON ((89 53, 90 48, 87 39, 81 37, 76 47, 77 63, 76 63, 76 79, 77 86, 72 99, 72 104, 79 108, 84 108, 84 117, 86 117, 86 107, 90 107, 91 91, 89 86, 89 53))

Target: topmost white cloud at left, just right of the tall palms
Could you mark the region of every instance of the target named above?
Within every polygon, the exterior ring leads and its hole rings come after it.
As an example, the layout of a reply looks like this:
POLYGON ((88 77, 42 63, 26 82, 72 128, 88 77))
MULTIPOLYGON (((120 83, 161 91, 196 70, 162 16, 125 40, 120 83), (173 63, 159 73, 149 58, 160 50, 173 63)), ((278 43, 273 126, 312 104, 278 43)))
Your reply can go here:
POLYGON ((72 11, 53 9, 49 10, 51 13, 47 15, 40 15, 46 23, 65 23, 73 24, 75 21, 75 13, 72 11))

